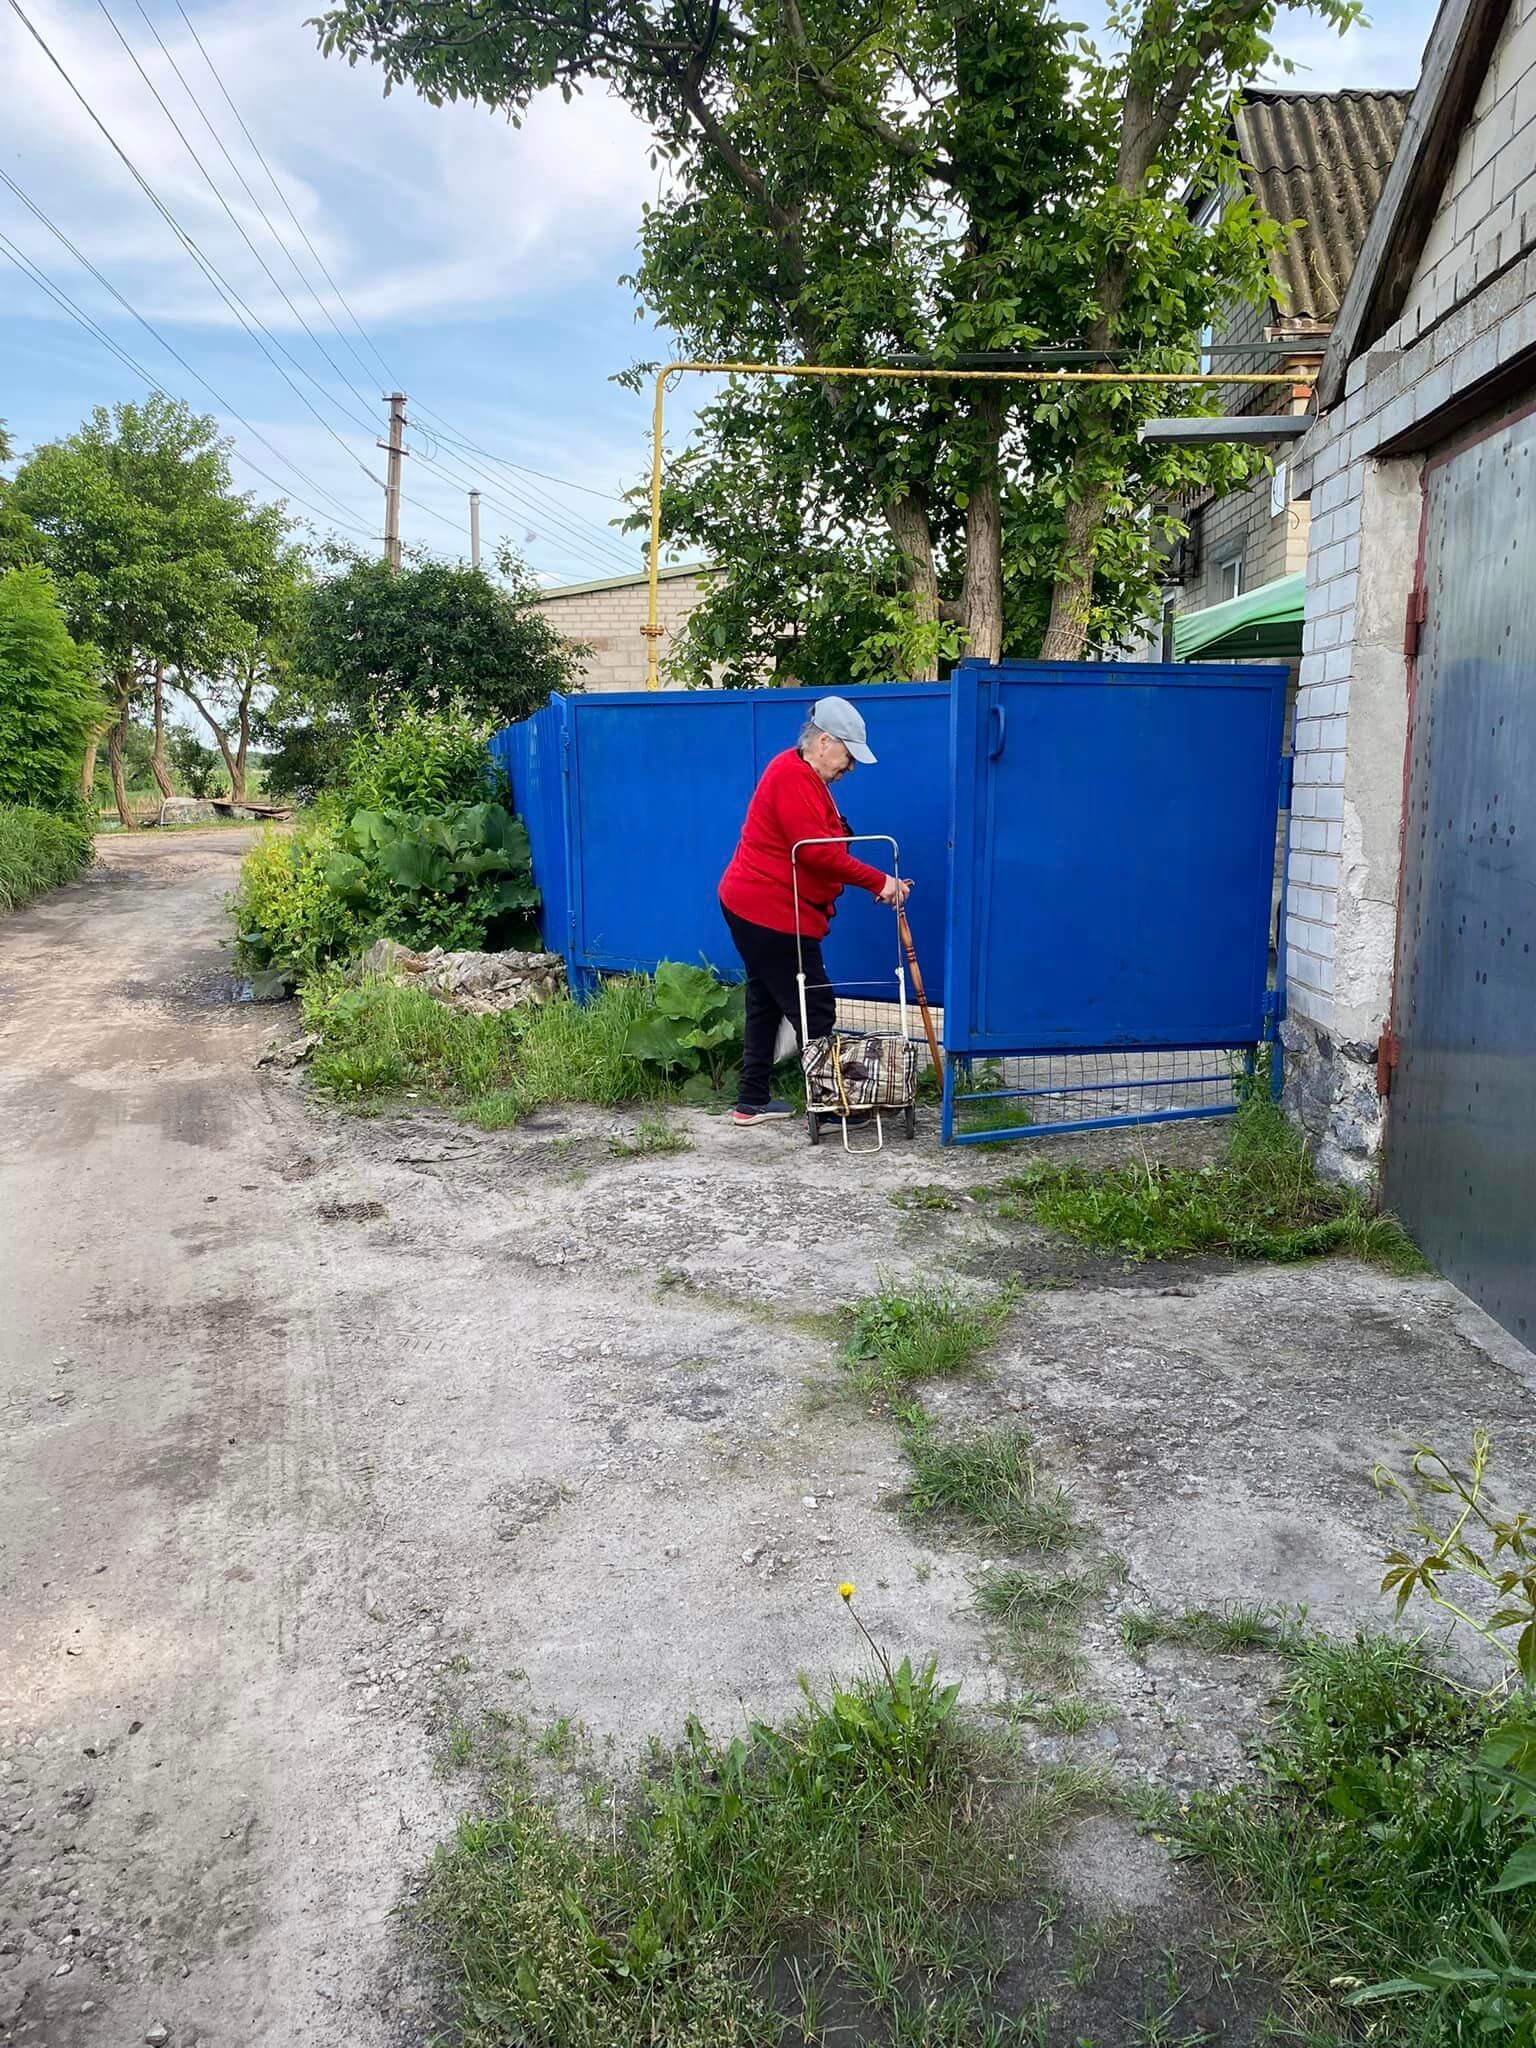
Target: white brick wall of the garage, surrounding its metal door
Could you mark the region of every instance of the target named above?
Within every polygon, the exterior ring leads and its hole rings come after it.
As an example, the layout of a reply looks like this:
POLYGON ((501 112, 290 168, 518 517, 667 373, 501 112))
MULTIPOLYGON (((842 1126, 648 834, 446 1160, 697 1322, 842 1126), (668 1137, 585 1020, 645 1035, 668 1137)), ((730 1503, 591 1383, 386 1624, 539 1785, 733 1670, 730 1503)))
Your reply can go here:
POLYGON ((1403 621, 1423 455, 1446 436, 1448 408, 1462 408, 1462 420, 1493 379, 1497 410, 1511 403, 1511 391, 1536 393, 1536 211, 1511 215, 1497 197, 1536 176, 1532 23, 1536 0, 1516 0, 1401 319, 1356 356, 1343 399, 1296 451, 1311 537, 1286 899, 1286 1044, 1294 1100, 1319 1157, 1354 1178, 1372 1169, 1380 1141, 1366 1067, 1389 1020, 1397 950, 1403 621), (1532 119, 1520 119, 1522 109, 1532 119), (1503 168, 1491 176, 1495 164, 1503 168), (1479 205, 1491 209, 1491 233, 1473 217, 1479 205))

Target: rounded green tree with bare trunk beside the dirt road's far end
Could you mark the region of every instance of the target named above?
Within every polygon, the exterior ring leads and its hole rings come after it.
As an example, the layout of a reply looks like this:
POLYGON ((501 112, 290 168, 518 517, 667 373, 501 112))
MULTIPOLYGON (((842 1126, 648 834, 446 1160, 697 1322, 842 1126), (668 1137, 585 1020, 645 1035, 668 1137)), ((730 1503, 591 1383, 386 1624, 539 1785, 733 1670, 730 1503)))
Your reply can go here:
POLYGON ((39 535, 74 637, 102 657, 117 813, 133 813, 123 748, 156 664, 221 672, 248 633, 252 561, 281 514, 233 492, 229 444, 184 403, 98 406, 68 440, 35 449, 8 492, 39 535))

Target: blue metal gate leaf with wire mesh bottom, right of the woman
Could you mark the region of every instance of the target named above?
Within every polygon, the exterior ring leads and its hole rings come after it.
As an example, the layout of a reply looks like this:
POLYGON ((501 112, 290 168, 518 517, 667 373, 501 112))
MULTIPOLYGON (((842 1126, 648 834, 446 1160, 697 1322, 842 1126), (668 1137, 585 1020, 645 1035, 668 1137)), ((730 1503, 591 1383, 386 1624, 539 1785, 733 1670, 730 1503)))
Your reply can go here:
POLYGON ((944 1139, 1212 1116, 1272 1034, 1286 670, 963 664, 944 1139))

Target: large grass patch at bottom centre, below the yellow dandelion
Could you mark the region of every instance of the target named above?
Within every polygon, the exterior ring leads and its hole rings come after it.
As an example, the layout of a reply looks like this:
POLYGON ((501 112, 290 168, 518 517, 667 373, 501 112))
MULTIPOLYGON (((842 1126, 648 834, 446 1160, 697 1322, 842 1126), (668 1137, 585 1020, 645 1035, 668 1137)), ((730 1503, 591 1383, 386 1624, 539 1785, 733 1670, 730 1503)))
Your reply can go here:
POLYGON ((420 1905, 461 2048, 770 2048, 1016 2040, 987 1911, 1096 1794, 1024 1774, 932 1665, 834 1686, 715 1741, 690 1722, 639 1782, 545 1796, 508 1755, 420 1905))

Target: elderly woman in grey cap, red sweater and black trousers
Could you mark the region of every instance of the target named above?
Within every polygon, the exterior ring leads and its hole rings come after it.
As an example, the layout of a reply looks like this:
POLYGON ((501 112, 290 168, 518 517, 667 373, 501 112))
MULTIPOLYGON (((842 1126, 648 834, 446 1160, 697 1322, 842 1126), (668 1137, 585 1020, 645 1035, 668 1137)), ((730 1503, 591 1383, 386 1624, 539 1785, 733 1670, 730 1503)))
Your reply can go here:
POLYGON ((795 895, 799 889, 801 954, 805 963, 805 1020, 823 1038, 838 1016, 827 985, 821 940, 844 889, 868 889, 877 903, 899 909, 911 883, 854 860, 846 846, 801 846, 791 868, 791 848, 803 840, 848 840, 852 827, 831 801, 831 784, 854 762, 874 762, 864 721, 846 696, 823 696, 811 707, 799 743, 776 754, 752 793, 741 838, 725 874, 721 909, 735 950, 748 971, 745 1049, 741 1094, 731 1122, 762 1124, 791 1116, 788 1102, 772 1102, 778 1026, 788 1018, 801 1036, 801 1001, 795 983, 795 895))

